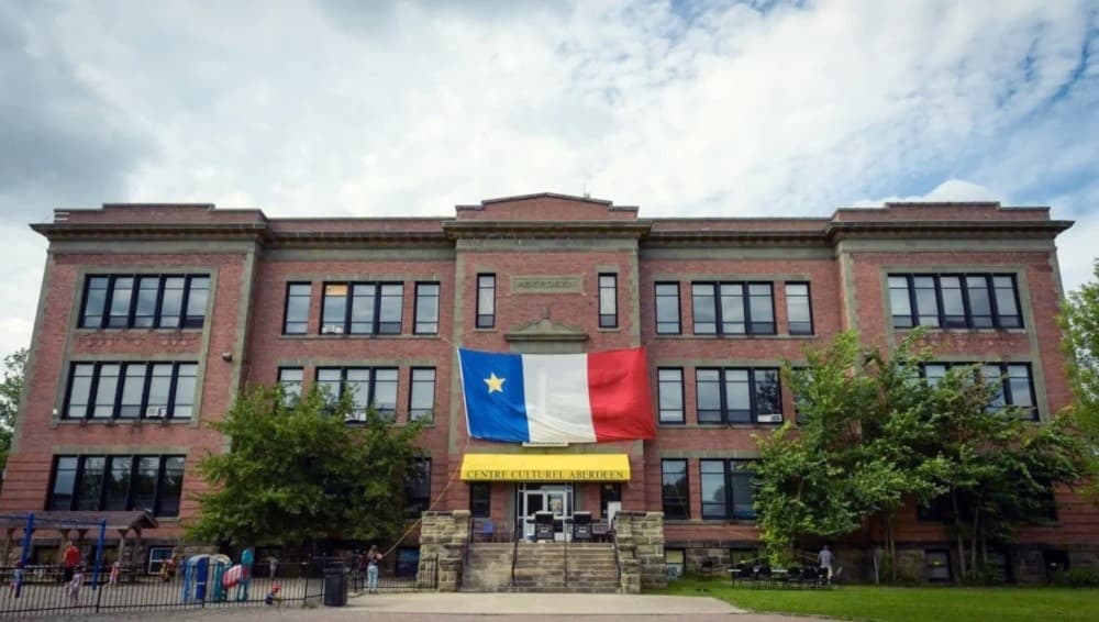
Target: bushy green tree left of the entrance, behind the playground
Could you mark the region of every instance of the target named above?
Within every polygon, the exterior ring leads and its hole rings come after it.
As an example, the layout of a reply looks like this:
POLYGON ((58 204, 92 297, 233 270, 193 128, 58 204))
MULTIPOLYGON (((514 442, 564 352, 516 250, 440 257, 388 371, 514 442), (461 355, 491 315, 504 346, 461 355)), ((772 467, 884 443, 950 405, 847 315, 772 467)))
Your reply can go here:
POLYGON ((231 451, 199 465, 211 489, 198 495, 189 535, 233 545, 396 540, 420 425, 397 427, 369 409, 364 425, 348 426, 353 409, 315 390, 289 401, 278 387, 241 395, 210 424, 231 451))

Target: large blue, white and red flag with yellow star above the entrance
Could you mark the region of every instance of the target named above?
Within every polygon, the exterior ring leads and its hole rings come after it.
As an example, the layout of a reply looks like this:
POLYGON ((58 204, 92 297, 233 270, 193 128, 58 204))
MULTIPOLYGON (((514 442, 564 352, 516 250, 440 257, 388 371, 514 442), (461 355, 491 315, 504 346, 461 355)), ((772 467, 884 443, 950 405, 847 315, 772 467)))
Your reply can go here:
POLYGON ((497 354, 458 348, 469 435, 504 443, 655 438, 643 348, 497 354))

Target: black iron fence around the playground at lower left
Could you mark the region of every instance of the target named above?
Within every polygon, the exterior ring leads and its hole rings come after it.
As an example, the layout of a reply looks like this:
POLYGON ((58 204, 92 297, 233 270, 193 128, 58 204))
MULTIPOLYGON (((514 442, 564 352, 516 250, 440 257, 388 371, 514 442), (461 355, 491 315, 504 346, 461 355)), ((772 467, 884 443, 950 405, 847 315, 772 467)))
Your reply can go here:
POLYGON ((271 573, 266 563, 245 574, 238 567, 206 566, 185 560, 175 573, 147 574, 145 566, 84 569, 66 581, 63 568, 51 566, 0 567, 0 617, 31 614, 102 613, 188 608, 302 607, 342 604, 336 591, 434 591, 439 563, 423 558, 418 573, 396 576, 380 568, 371 584, 366 568, 336 558, 280 562, 271 573), (189 568, 189 569, 188 569, 189 568), (240 574, 237 578, 234 573, 240 574))

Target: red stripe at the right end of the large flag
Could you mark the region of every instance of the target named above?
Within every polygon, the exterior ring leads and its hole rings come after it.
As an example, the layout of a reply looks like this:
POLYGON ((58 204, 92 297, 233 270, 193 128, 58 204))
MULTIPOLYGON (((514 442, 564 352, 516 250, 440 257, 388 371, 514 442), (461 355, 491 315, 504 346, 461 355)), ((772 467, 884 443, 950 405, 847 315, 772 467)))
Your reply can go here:
POLYGON ((656 438, 644 348, 588 354, 596 442, 656 438))

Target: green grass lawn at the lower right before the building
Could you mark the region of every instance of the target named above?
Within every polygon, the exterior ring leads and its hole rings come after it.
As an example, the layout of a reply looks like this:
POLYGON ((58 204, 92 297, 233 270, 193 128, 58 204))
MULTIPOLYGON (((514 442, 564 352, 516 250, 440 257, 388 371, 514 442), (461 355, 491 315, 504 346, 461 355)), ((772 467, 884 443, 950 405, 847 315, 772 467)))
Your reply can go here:
POLYGON ((798 590, 680 579, 654 593, 712 596, 752 611, 884 622, 1099 620, 1099 589, 842 586, 798 590))

